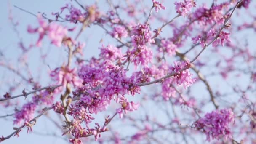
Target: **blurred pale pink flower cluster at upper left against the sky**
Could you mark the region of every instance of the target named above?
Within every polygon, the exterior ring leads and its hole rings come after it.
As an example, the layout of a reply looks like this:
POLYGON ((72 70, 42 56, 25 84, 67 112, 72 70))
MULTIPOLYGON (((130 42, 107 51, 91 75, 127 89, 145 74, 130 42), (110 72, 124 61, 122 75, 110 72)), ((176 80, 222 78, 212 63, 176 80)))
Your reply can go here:
POLYGON ((51 43, 57 47, 60 47, 63 38, 67 36, 68 29, 56 23, 47 24, 47 22, 43 20, 42 16, 38 16, 38 22, 40 27, 33 29, 31 26, 29 26, 27 28, 29 33, 39 33, 39 38, 36 45, 38 47, 41 46, 43 37, 48 35, 51 43))

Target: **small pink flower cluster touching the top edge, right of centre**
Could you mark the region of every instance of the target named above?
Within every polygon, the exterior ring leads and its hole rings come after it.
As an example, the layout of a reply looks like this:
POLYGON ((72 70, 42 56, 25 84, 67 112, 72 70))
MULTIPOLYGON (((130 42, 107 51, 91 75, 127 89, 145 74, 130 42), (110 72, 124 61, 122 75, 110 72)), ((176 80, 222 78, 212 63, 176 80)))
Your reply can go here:
POLYGON ((195 7, 196 4, 194 0, 184 0, 182 2, 175 2, 174 5, 177 13, 181 16, 187 16, 189 11, 192 7, 195 7))

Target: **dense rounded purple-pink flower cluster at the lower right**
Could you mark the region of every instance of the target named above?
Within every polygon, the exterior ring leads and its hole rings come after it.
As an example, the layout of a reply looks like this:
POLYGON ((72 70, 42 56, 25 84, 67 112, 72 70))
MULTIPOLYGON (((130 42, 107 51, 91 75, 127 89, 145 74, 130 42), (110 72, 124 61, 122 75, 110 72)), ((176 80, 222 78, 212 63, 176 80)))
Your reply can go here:
POLYGON ((207 136, 207 141, 212 139, 232 139, 229 124, 234 123, 234 113, 231 109, 221 109, 207 113, 205 117, 195 122, 197 129, 203 129, 207 136))

